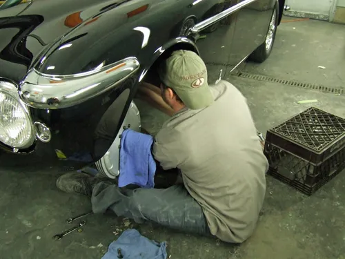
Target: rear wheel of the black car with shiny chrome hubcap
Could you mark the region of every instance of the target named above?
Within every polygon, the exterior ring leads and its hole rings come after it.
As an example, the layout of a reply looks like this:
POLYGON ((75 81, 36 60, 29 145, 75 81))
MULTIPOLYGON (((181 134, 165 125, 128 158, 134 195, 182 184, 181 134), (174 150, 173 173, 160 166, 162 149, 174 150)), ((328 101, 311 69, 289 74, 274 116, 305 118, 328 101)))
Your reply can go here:
POLYGON ((278 6, 276 5, 270 19, 270 25, 268 26, 268 31, 264 43, 257 47, 257 49, 254 50, 252 54, 250 54, 248 59, 258 63, 262 63, 269 57, 270 52, 272 52, 273 44, 275 42, 275 35, 277 33, 277 14, 278 6))

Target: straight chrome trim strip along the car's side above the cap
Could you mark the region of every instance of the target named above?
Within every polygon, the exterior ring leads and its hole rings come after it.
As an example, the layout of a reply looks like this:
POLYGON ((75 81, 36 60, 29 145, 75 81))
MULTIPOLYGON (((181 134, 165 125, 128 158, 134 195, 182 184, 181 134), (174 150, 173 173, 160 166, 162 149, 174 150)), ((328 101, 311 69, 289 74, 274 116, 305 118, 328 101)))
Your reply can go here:
POLYGON ((199 23, 195 24, 195 26, 191 29, 191 32, 198 33, 201 32, 201 30, 204 30, 208 26, 211 26, 213 23, 217 23, 218 21, 221 21, 221 19, 224 19, 228 15, 233 14, 237 10, 244 8, 245 6, 248 6, 250 3, 254 3, 257 0, 244 0, 241 3, 237 3, 235 6, 231 6, 230 8, 224 10, 223 12, 219 12, 219 14, 214 15, 213 17, 210 17, 204 21, 200 21, 199 23))

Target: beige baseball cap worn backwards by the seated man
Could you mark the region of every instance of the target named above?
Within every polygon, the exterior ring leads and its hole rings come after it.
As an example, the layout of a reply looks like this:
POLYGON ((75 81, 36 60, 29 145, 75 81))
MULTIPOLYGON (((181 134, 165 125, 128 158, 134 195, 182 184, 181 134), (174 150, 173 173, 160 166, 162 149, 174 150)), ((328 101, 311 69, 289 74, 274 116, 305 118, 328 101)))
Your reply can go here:
POLYGON ((184 104, 198 110, 213 104, 204 61, 190 50, 176 50, 159 67, 163 84, 175 90, 184 104))

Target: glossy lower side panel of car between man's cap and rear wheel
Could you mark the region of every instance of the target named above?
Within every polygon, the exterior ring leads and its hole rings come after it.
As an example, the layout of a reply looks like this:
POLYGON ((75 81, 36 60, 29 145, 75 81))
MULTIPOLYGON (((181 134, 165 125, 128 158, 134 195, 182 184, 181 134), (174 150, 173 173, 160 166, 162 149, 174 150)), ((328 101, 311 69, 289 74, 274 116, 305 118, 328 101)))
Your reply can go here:
MULTIPOLYGON (((243 2, 228 1, 224 8, 235 7, 243 2)), ((204 33, 206 38, 197 41, 197 46, 208 70, 222 70, 222 75, 226 77, 262 44, 274 6, 275 1, 272 0, 252 1, 217 23, 213 32, 204 33)), ((216 79, 212 78, 213 81, 216 79)))

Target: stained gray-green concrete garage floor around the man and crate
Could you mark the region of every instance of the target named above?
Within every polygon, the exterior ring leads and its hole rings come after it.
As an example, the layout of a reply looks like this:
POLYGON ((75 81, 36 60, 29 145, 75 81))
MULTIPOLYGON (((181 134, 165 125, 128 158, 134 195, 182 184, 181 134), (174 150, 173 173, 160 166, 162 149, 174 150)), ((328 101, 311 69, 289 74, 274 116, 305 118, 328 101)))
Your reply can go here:
MULTIPOLYGON (((248 63, 242 71, 344 90, 344 29, 323 21, 282 23, 270 59, 248 63)), ((311 106, 297 104, 305 99, 317 99, 313 106, 345 117, 345 95, 237 76, 228 81, 248 98, 262 132, 311 106)), ((112 215, 91 215, 83 232, 57 242, 52 236, 70 227, 66 218, 90 209, 88 199, 58 191, 59 171, 46 173, 39 166, 0 171, 1 258, 101 258, 108 244, 132 227, 148 238, 167 241, 171 258, 345 258, 344 172, 310 198, 268 176, 257 231, 236 247, 112 215)))

